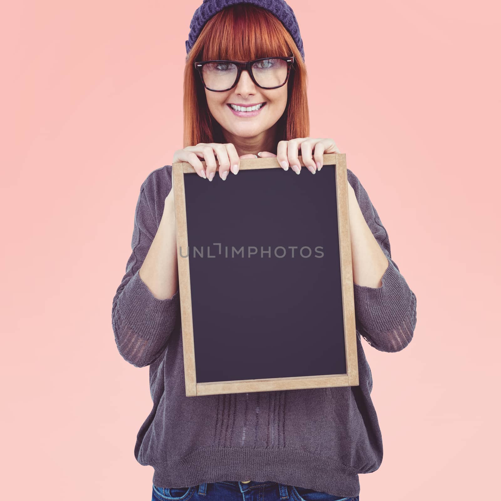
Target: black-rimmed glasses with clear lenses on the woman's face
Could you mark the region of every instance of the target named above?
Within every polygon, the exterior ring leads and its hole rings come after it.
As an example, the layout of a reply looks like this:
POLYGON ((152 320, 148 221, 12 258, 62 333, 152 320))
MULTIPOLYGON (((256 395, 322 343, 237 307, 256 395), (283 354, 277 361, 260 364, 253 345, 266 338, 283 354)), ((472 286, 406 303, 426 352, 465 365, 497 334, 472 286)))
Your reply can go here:
POLYGON ((214 92, 232 89, 243 70, 247 70, 253 82, 262 89, 282 87, 289 78, 294 56, 255 59, 242 63, 240 61, 213 60, 195 61, 195 68, 200 73, 203 86, 214 92))

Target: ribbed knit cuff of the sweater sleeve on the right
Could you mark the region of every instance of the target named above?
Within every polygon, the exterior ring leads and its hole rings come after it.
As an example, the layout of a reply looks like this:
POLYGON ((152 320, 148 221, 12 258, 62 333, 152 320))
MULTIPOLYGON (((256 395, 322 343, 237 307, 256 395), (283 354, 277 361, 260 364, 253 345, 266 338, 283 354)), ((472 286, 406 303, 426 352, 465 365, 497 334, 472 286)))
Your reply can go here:
POLYGON ((353 283, 355 309, 362 327, 370 333, 388 333, 410 323, 413 294, 391 260, 381 287, 353 283))

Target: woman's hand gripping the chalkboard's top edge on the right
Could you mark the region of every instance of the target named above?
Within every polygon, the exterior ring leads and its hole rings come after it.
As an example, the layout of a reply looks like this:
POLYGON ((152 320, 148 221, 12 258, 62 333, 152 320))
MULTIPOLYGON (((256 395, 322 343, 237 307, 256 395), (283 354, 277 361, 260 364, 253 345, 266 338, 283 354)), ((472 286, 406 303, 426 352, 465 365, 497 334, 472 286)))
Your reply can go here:
POLYGON ((260 151, 258 156, 261 158, 276 156, 284 170, 287 170, 290 165, 292 170, 299 174, 301 172, 299 150, 301 150, 304 164, 312 174, 323 167, 324 153, 341 153, 334 139, 300 137, 290 141, 279 141, 276 155, 269 151, 260 151), (314 159, 312 158, 313 150, 315 150, 314 159))

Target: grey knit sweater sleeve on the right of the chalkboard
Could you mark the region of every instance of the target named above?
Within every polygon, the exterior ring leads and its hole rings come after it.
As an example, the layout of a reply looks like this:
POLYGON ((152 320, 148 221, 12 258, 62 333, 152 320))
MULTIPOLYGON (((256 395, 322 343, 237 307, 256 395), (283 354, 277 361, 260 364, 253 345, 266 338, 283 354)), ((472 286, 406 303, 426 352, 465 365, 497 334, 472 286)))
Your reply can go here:
POLYGON ((365 287, 353 283, 357 330, 377 350, 400 351, 410 343, 414 334, 416 296, 391 259, 388 232, 366 190, 351 171, 348 179, 355 190, 365 221, 388 259, 381 287, 365 287))

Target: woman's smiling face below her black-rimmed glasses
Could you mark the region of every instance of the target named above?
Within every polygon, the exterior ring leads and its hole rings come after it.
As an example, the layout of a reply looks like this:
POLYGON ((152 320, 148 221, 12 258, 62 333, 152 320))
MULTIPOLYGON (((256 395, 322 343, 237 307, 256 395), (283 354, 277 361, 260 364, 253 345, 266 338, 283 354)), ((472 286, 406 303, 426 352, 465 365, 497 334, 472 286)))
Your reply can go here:
POLYGON ((287 106, 287 84, 278 89, 258 87, 247 71, 242 71, 235 87, 226 92, 205 89, 210 113, 226 137, 256 139, 277 123, 287 106), (230 105, 234 105, 233 107, 230 105), (254 111, 238 111, 236 106, 256 107, 254 111), (260 107, 261 106, 261 107, 260 107))

